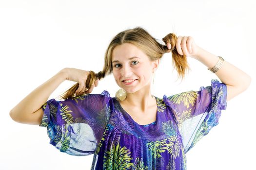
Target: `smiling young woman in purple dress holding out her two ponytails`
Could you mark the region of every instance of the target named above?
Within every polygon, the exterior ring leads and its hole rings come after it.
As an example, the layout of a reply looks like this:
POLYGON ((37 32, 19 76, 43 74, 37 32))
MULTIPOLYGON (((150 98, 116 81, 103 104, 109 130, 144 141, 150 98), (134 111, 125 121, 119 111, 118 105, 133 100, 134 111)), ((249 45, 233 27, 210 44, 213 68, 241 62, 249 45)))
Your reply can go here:
POLYGON ((50 143, 60 152, 94 154, 92 170, 185 170, 185 153, 218 124, 227 101, 246 90, 251 78, 197 46, 191 36, 168 34, 162 40, 166 45, 141 27, 120 32, 105 53, 102 71, 63 68, 18 103, 11 118, 47 127, 50 143), (153 96, 151 81, 166 52, 172 52, 179 77, 184 78, 190 56, 222 83, 212 79, 198 91, 153 96), (121 87, 115 97, 106 90, 89 94, 111 73, 121 87), (64 101, 48 100, 65 80, 77 84, 64 101))

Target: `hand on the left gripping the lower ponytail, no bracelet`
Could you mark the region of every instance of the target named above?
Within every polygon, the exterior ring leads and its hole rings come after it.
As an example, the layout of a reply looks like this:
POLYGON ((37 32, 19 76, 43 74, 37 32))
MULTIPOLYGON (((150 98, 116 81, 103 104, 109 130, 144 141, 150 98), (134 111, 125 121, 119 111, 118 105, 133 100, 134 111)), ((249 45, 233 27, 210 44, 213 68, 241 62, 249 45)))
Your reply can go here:
POLYGON ((64 72, 67 73, 66 80, 70 80, 73 82, 79 83, 79 87, 76 90, 76 96, 82 94, 82 93, 91 93, 93 91, 93 88, 98 86, 98 79, 95 80, 95 82, 91 85, 91 87, 88 89, 85 86, 85 82, 87 80, 87 77, 89 76, 90 72, 82 69, 77 68, 64 68, 64 72))

